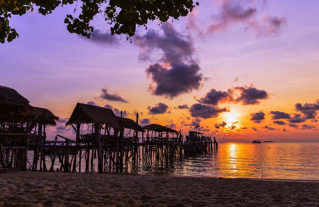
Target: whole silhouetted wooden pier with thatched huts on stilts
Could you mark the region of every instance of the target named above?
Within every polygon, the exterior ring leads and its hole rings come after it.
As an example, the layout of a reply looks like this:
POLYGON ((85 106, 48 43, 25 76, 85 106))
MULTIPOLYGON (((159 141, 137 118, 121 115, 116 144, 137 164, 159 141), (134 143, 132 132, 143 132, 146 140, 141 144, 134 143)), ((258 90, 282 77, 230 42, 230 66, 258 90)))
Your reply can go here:
POLYGON ((59 118, 50 110, 34 107, 12 88, 0 86, 0 165, 3 168, 40 171, 122 171, 128 163, 138 165, 152 160, 169 162, 187 154, 218 151, 214 137, 136 121, 116 116, 112 109, 77 103, 66 126, 75 138, 57 135, 46 140, 46 127, 56 126, 59 118), (90 128, 81 133, 81 126, 90 128), (59 140, 58 140, 59 139, 59 140), (62 140, 62 141, 61 141, 62 140), (49 162, 47 162, 49 160, 49 162), (49 166, 47 166, 49 163, 49 166), (56 164, 60 167, 55 169, 56 164))

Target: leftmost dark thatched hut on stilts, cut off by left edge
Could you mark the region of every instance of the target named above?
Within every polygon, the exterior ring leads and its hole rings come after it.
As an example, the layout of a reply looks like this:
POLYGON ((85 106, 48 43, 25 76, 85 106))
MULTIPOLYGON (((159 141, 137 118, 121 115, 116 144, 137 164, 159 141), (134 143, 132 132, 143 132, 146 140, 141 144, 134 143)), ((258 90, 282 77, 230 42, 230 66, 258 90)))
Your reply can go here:
POLYGON ((29 115, 34 108, 13 88, 0 86, 0 162, 3 167, 26 169, 29 115))

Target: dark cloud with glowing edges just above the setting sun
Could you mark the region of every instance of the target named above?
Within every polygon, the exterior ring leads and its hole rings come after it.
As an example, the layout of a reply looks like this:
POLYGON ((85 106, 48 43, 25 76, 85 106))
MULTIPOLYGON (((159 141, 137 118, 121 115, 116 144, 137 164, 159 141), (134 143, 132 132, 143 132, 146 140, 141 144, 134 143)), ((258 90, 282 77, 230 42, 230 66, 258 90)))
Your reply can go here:
POLYGON ((243 105, 259 104, 260 100, 268 99, 269 95, 264 90, 258 90, 253 85, 237 86, 230 88, 228 94, 231 96, 229 100, 235 103, 242 103, 243 105))

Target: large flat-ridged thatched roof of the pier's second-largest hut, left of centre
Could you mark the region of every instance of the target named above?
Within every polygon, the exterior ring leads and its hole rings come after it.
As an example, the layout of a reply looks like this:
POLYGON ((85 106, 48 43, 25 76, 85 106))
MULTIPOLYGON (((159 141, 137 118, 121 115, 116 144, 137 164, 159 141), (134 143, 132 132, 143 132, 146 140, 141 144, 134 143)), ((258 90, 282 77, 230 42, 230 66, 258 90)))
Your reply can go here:
POLYGON ((109 124, 113 129, 120 130, 121 126, 112 109, 99 106, 92 106, 83 103, 77 103, 69 121, 70 124, 92 124, 105 123, 109 124))

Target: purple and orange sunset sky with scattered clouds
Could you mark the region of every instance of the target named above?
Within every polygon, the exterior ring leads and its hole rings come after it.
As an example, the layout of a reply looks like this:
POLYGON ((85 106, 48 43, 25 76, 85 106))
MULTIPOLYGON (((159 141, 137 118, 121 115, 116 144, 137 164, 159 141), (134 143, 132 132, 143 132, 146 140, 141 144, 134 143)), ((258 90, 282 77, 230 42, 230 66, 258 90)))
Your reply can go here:
POLYGON ((220 141, 319 141, 319 1, 199 1, 187 17, 140 27, 132 43, 102 17, 91 39, 70 34, 75 5, 13 17, 0 45, 0 85, 60 117, 77 102, 140 124, 220 141))

